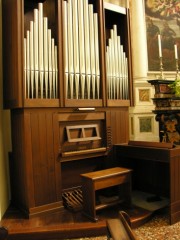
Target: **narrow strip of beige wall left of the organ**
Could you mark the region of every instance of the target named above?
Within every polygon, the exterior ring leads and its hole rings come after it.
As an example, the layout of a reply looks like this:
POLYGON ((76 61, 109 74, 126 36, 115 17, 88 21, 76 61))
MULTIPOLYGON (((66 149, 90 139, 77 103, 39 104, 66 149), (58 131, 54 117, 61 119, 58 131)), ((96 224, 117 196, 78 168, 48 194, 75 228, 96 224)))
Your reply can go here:
MULTIPOLYGON (((0 0, 0 16, 2 16, 2 0, 0 0)), ((9 111, 3 110, 2 75, 2 19, 0 17, 0 220, 10 202, 8 152, 11 151, 9 111)))

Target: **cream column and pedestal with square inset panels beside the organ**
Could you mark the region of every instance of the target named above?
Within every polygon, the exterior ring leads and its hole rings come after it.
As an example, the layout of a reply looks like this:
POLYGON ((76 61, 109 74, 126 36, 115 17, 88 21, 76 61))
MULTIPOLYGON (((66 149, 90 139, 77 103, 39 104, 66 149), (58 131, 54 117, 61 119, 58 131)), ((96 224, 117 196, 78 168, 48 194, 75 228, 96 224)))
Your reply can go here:
POLYGON ((130 108, 130 138, 137 141, 159 141, 158 123, 152 113, 154 87, 148 73, 144 0, 130 1, 132 64, 135 106, 130 108))

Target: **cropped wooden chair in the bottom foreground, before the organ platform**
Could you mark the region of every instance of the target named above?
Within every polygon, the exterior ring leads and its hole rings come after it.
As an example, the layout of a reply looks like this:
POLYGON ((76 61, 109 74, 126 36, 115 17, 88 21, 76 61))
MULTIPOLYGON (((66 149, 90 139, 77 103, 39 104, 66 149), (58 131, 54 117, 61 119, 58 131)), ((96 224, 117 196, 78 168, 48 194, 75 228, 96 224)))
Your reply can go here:
POLYGON ((108 219, 109 239, 138 240, 131 229, 131 221, 126 212, 120 211, 119 218, 108 219))

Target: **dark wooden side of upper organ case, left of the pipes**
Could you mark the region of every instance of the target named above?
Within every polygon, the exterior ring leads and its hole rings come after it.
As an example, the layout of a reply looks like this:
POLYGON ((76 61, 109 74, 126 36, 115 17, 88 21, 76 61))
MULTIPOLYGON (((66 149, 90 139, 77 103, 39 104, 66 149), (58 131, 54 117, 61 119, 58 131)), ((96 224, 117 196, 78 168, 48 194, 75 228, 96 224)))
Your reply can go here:
POLYGON ((23 4, 2 1, 4 107, 22 107, 23 4), (7 24, 8 23, 8 24, 7 24))

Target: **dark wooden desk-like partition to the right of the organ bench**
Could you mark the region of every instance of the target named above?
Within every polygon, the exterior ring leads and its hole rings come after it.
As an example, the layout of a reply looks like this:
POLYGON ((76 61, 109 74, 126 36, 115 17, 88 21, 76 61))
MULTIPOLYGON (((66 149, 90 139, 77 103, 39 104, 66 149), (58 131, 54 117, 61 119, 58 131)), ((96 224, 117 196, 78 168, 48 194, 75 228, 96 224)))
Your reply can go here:
POLYGON ((134 189, 170 199, 170 223, 180 220, 180 148, 115 146, 118 166, 133 169, 134 189), (144 177, 146 176, 146 177, 144 177))

